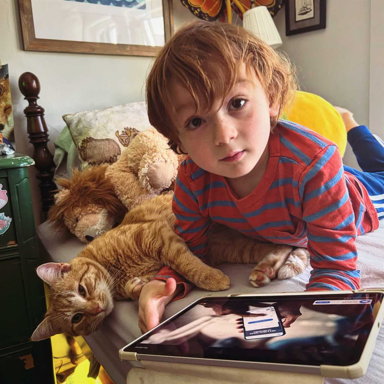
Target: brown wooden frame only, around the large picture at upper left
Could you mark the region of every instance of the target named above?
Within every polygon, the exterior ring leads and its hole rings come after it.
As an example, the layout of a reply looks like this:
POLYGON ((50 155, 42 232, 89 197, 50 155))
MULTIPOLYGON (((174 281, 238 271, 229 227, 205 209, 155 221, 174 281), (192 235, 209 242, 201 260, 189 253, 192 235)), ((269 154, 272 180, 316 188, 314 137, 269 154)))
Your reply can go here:
MULTIPOLYGON (((164 40, 174 31, 172 0, 161 0, 164 20, 164 40)), ((18 0, 24 50, 64 53, 94 53, 100 55, 156 56, 161 46, 96 43, 87 41, 36 38, 31 0, 18 0)))

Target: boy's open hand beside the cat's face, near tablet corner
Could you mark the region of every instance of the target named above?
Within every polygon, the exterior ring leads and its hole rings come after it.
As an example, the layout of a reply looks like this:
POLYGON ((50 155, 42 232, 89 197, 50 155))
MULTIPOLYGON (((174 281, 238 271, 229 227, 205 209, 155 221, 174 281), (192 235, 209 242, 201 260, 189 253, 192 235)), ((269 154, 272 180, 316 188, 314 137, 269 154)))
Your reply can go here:
POLYGON ((176 281, 152 280, 143 286, 139 297, 139 328, 142 333, 156 327, 164 313, 165 306, 179 293, 176 281))

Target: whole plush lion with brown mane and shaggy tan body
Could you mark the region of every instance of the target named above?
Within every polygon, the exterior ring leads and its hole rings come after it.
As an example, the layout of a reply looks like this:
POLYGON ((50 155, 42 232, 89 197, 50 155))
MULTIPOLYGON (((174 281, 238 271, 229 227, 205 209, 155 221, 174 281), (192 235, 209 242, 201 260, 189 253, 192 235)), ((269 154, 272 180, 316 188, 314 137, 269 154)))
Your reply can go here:
POLYGON ((155 129, 139 132, 116 163, 74 170, 71 179, 55 180, 62 189, 48 212, 52 229, 92 241, 118 225, 134 205, 172 193, 184 158, 155 129))

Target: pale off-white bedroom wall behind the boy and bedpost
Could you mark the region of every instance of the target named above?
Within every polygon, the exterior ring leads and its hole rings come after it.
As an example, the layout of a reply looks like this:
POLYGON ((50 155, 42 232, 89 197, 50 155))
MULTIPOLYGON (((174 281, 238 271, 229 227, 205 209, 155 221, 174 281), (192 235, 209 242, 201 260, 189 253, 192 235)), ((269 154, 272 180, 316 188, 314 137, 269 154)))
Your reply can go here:
MULTIPOLYGON (((185 20, 194 19, 180 0, 173 2, 175 28, 185 20)), ((370 60, 376 64, 384 60, 383 8, 382 0, 327 0, 326 29, 294 36, 285 36, 284 8, 274 18, 283 40, 281 48, 301 68, 303 89, 350 109, 362 124, 369 124, 370 76, 374 89, 371 97, 384 96, 382 87, 377 85, 384 84, 382 67, 380 71, 370 72, 370 60), (376 51, 370 59, 371 13, 372 20, 376 20, 373 26, 381 35, 375 37, 376 51)), ((40 79, 39 103, 46 110, 50 138, 54 139, 64 126, 61 116, 65 113, 144 100, 144 79, 152 61, 134 56, 23 51, 17 0, 0 0, 0 58, 10 67, 17 151, 30 156, 33 147, 26 136, 23 109, 27 103, 18 89, 20 74, 30 71, 40 79)), ((383 101, 375 99, 380 115, 371 111, 371 119, 379 116, 371 129, 381 136, 384 136, 384 128, 379 124, 384 113, 383 101)), ((53 141, 49 145, 53 149, 53 141)), ((349 149, 344 162, 356 166, 349 149)), ((30 167, 30 179, 38 222, 40 192, 33 167, 30 167)))

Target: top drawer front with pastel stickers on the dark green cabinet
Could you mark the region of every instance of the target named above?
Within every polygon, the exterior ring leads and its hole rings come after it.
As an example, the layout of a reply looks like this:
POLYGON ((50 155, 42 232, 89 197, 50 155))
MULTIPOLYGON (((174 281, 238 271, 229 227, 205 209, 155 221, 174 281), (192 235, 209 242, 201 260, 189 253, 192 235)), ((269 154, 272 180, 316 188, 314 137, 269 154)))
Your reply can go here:
POLYGON ((15 245, 17 238, 8 178, 0 177, 0 185, 0 247, 6 247, 15 245))

